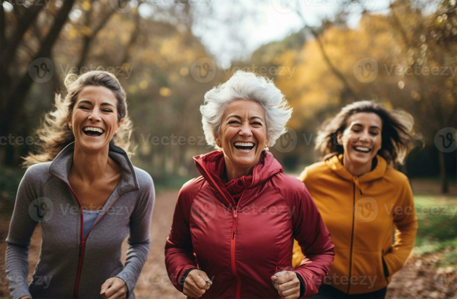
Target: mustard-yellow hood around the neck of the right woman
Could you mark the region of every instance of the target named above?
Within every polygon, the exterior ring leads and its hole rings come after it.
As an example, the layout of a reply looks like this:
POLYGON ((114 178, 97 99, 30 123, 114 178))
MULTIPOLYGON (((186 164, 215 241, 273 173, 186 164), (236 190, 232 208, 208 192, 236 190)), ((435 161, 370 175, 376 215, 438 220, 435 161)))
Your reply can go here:
POLYGON ((343 161, 343 154, 335 154, 334 156, 326 159, 325 163, 341 178, 344 178, 347 181, 354 181, 354 179, 357 179, 358 182, 363 183, 374 181, 375 179, 382 178, 385 175, 387 170, 386 160, 380 155, 376 155, 376 159, 376 167, 372 171, 362 174, 360 177, 354 176, 344 167, 343 163, 341 163, 341 161, 343 161))

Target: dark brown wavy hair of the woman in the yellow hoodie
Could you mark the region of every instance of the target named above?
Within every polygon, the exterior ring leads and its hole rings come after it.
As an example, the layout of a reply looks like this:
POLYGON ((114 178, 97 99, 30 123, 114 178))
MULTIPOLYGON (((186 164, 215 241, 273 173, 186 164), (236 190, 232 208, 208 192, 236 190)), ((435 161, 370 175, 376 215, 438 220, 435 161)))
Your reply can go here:
POLYGON ((414 118, 404 110, 388 110, 385 106, 372 100, 363 100, 346 105, 329 121, 326 121, 318 132, 321 143, 315 150, 321 160, 343 153, 343 147, 337 142, 337 133, 343 132, 348 118, 359 112, 376 113, 383 121, 381 131, 381 149, 378 155, 386 159, 390 166, 403 164, 404 159, 414 147, 413 141, 421 139, 414 134, 414 118))

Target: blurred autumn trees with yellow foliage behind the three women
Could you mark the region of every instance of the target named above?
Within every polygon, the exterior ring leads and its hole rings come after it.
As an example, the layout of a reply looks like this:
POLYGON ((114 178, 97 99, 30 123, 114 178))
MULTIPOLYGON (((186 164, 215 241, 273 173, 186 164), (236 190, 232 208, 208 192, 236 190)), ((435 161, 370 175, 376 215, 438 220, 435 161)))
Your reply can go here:
POLYGON ((222 20, 213 10, 217 1, 203 7, 187 0, 173 5, 2 0, 0 130, 15 142, 2 143, 1 165, 17 167, 33 150, 18 136, 39 142, 34 129, 52 108, 54 93, 64 92, 66 74, 101 67, 115 73, 128 93, 135 162, 159 180, 196 175, 191 157, 211 150, 202 139, 198 108, 203 95, 243 68, 274 79, 294 108, 289 126, 297 146, 271 148, 287 171, 314 162, 313 141, 323 121, 354 100, 374 99, 410 112, 424 137, 424 149, 416 148, 401 170, 409 176, 440 176, 447 192, 449 178, 456 175, 456 155, 438 150, 434 139, 442 128, 456 126, 455 1, 386 1, 381 10, 366 8, 363 0, 351 2, 360 8, 357 26, 348 25, 347 6, 320 26, 310 26, 299 3, 290 14, 303 21, 303 28, 250 53, 237 35, 243 30, 239 21, 256 19, 260 11, 241 1, 234 1, 230 17, 222 20), (205 26, 221 26, 233 37, 226 47, 239 55, 233 54, 229 65, 221 64, 198 36, 205 26), (196 66, 202 58, 209 64, 196 66), (213 79, 196 79, 196 67, 213 79), (442 74, 424 73, 432 67, 442 74), (51 69, 49 79, 40 78, 38 73, 51 69), (375 71, 374 79, 363 78, 363 72, 375 71))

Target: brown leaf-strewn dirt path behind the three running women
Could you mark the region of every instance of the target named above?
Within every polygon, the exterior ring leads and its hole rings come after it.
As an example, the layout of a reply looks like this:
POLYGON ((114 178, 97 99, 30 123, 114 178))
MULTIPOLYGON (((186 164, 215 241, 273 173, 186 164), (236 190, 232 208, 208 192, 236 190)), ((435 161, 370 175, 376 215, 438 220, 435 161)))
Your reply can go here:
MULTIPOLYGON (((151 224, 151 251, 143 267, 140 278, 135 288, 138 299, 143 298, 186 298, 170 283, 165 270, 164 246, 170 231, 173 210, 178 191, 160 191, 157 194, 154 207, 153 221, 151 224)), ((0 222, 0 297, 9 298, 8 283, 5 276, 5 238, 8 232, 9 221, 0 222)), ((41 228, 32 236, 29 247, 29 275, 38 260, 41 246, 41 228)), ((123 262, 127 241, 123 245, 123 262)), ((438 289, 434 278, 436 264, 442 259, 441 253, 429 254, 423 257, 411 257, 405 267, 396 273, 389 284, 387 298, 457 298, 457 290, 443 292, 438 289)), ((454 273, 456 275, 457 273, 454 273)), ((456 276, 454 276, 454 279, 456 276)), ((455 282, 454 282, 455 283, 455 282)))

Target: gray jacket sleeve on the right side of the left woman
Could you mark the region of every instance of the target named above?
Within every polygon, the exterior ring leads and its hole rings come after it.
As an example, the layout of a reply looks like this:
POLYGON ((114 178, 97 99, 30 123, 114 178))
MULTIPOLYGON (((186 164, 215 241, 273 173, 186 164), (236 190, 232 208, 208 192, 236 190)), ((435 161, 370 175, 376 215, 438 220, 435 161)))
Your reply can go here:
POLYGON ((132 294, 141 269, 146 262, 151 245, 149 229, 154 209, 155 191, 152 178, 147 175, 144 191, 130 215, 130 236, 125 266, 115 277, 121 278, 127 285, 127 298, 132 294))

